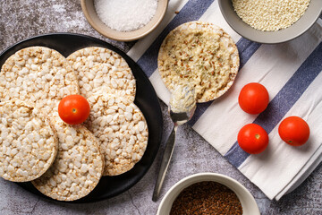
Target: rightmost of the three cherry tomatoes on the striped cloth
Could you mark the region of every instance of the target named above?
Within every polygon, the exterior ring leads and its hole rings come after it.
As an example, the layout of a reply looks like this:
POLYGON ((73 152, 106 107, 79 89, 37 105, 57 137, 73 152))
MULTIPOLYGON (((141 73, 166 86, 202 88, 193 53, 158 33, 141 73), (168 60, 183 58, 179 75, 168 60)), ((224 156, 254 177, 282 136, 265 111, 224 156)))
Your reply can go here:
POLYGON ((292 146, 301 146, 309 140, 309 125, 299 116, 289 116, 278 126, 282 140, 292 146))

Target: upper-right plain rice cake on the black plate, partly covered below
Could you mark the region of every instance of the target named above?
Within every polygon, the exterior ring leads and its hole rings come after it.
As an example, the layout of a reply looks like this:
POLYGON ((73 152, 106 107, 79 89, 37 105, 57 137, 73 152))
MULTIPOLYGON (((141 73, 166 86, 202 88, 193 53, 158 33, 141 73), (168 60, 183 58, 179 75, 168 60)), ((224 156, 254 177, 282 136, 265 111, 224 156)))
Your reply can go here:
POLYGON ((70 56, 80 93, 85 98, 106 93, 126 97, 133 101, 136 83, 131 68, 122 56, 104 47, 85 47, 70 56))

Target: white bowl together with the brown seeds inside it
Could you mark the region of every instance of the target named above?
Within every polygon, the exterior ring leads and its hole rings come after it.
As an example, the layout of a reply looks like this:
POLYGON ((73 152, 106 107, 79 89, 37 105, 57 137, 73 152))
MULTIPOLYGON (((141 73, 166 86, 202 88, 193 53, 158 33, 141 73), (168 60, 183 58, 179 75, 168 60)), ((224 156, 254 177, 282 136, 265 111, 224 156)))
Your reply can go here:
POLYGON ((252 214, 259 215, 250 192, 233 178, 216 173, 187 176, 161 201, 157 215, 252 214))

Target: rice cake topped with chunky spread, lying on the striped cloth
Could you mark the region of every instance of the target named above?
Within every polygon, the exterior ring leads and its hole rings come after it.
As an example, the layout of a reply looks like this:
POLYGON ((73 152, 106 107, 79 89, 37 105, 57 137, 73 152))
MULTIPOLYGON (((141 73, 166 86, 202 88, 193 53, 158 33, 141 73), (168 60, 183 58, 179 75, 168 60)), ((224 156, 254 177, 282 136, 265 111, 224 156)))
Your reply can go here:
POLYGON ((186 22, 165 37, 157 64, 171 92, 190 82, 197 102, 207 102, 231 87, 240 62, 238 49, 224 30, 208 22, 186 22))

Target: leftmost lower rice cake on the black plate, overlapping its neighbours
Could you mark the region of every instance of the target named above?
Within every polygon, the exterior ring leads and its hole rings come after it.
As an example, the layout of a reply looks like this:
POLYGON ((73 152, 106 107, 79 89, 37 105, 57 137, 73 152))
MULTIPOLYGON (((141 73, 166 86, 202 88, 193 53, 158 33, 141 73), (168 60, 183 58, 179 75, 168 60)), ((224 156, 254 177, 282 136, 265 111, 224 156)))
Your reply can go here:
POLYGON ((0 120, 0 176, 26 182, 43 175, 58 150, 49 120, 19 99, 0 102, 0 120))

